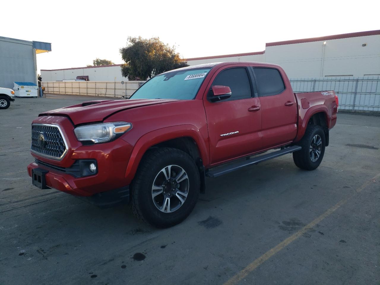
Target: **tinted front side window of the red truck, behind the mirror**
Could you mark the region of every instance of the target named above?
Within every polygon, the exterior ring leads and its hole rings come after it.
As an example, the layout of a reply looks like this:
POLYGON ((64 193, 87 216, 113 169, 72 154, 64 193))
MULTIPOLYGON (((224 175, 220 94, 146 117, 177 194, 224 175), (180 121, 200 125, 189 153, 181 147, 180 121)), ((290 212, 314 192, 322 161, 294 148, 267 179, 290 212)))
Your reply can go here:
POLYGON ((245 67, 235 67, 221 71, 212 82, 212 86, 214 85, 230 87, 232 95, 229 100, 252 97, 251 84, 245 67))

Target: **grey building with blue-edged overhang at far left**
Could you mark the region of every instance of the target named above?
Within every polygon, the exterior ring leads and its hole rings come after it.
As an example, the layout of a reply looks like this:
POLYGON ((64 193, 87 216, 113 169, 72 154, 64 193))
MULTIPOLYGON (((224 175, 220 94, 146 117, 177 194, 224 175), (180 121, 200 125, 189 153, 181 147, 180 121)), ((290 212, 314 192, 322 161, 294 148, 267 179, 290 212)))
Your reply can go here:
POLYGON ((13 82, 37 84, 36 54, 51 51, 51 43, 0 36, 0 87, 13 89, 13 82))

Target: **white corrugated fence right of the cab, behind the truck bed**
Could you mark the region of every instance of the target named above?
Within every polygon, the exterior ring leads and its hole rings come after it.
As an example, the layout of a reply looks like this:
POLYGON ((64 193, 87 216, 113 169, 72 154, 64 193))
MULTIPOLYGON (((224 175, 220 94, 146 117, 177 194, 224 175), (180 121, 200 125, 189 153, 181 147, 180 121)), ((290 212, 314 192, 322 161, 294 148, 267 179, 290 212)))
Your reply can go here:
POLYGON ((380 76, 292 78, 294 92, 334 90, 339 110, 380 111, 380 76))

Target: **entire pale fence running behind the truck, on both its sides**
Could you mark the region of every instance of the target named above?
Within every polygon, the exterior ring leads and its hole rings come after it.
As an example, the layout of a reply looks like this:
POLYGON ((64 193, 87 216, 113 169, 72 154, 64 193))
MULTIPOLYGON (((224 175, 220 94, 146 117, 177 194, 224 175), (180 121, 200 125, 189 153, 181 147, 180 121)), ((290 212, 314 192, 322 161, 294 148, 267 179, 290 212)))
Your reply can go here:
MULTIPOLYGON (((145 81, 51 81, 42 82, 45 93, 129 98, 145 81)), ((380 111, 380 76, 292 78, 294 92, 334 90, 339 109, 380 111)))

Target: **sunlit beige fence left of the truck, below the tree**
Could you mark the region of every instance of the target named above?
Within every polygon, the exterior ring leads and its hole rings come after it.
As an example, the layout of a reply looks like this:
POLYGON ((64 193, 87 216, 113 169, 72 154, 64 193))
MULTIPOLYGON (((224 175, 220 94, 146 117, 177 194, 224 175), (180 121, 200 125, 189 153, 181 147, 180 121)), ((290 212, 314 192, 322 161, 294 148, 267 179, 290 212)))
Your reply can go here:
POLYGON ((49 81, 45 93, 129 98, 145 81, 49 81), (122 83, 123 82, 123 83, 122 83))

